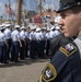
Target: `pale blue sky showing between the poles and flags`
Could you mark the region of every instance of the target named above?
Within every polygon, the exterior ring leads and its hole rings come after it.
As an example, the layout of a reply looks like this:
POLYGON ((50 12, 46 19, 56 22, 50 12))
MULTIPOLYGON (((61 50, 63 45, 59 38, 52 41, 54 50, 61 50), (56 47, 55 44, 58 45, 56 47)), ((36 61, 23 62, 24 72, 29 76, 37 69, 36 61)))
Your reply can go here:
MULTIPOLYGON (((16 5, 16 1, 18 0, 10 0, 11 2, 11 8, 16 11, 18 5, 16 5)), ((38 11, 38 0, 24 0, 24 4, 23 9, 27 10, 27 11, 38 11)), ((0 15, 4 14, 4 4, 8 3, 9 0, 0 0, 0 15)), ((59 0, 45 0, 45 2, 43 2, 43 8, 44 9, 51 9, 54 10, 55 8, 58 9, 59 7, 59 0)))

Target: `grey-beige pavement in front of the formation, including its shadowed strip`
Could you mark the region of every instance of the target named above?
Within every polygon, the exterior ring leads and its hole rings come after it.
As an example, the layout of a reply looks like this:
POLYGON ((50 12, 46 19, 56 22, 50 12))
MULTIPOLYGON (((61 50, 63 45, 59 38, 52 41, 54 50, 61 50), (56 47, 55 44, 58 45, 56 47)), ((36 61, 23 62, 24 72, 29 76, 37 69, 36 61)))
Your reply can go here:
POLYGON ((25 59, 20 62, 0 63, 0 82, 37 82, 49 59, 25 59))

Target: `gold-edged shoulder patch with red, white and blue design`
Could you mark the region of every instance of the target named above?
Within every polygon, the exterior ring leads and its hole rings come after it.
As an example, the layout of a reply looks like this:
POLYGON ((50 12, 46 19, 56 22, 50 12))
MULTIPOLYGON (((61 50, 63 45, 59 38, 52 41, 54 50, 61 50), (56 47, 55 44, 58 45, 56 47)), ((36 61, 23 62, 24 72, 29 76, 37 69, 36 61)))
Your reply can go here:
POLYGON ((68 44, 59 48, 61 52, 63 52, 67 57, 70 57, 77 51, 77 47, 72 44, 68 44))

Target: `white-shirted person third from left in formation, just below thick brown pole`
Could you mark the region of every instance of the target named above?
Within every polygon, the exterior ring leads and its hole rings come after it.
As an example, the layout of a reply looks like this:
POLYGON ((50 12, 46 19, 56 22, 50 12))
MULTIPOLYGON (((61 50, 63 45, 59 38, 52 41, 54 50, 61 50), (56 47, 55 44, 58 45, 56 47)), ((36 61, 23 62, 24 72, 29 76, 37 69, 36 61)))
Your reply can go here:
POLYGON ((19 50, 20 47, 22 47, 19 31, 20 31, 20 25, 15 25, 15 30, 11 34, 11 38, 12 38, 11 61, 15 61, 15 62, 18 62, 19 50))

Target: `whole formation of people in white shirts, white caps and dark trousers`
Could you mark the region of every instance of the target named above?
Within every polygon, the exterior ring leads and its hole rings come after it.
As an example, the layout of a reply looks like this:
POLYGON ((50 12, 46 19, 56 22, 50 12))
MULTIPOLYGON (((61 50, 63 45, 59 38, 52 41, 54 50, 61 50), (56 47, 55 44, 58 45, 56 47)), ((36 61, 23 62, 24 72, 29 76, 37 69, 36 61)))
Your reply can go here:
POLYGON ((35 27, 12 24, 0 25, 0 62, 8 60, 18 62, 30 57, 45 58, 48 56, 50 39, 59 35, 59 27, 35 27), (30 50, 30 55, 28 55, 30 50))

